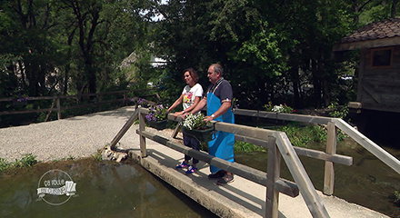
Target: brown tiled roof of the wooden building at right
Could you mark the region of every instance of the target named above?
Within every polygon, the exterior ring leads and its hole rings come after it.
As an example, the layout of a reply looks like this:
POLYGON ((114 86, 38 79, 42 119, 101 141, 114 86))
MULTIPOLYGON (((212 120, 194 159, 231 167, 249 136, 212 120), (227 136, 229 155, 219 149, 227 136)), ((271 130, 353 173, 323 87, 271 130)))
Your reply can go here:
POLYGON ((371 23, 345 36, 334 51, 400 45, 400 18, 371 23))

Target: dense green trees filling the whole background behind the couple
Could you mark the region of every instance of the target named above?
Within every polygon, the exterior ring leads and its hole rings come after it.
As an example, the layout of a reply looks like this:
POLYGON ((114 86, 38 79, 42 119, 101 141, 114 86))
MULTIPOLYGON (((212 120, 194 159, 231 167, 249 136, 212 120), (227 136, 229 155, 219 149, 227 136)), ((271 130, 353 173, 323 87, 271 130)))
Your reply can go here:
POLYGON ((356 81, 340 76, 355 74, 358 57, 332 59, 333 45, 359 25, 399 14, 391 11, 395 2, 382 1, 29 3, 0 3, 0 97, 145 88, 152 82, 163 88, 165 102, 173 102, 183 69, 194 67, 206 86, 207 67, 220 63, 238 103, 249 109, 270 101, 295 108, 325 107, 336 98, 346 104, 356 81), (165 19, 155 22, 154 15, 165 19), (151 54, 168 64, 152 67, 151 54))

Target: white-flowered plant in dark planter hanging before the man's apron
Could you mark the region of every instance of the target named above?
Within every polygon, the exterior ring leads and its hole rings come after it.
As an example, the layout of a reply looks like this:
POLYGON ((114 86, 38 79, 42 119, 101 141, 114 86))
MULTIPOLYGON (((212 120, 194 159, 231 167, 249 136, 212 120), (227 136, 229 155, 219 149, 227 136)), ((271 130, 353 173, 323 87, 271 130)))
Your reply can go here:
POLYGON ((194 136, 198 141, 208 142, 214 140, 214 127, 207 126, 204 114, 188 114, 185 117, 185 132, 194 136))

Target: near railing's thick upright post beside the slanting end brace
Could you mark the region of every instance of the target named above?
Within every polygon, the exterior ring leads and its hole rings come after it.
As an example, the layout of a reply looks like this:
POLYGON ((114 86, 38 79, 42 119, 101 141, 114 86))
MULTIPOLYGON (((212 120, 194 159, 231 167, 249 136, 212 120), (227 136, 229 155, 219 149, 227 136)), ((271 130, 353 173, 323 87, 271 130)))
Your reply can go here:
POLYGON ((266 205, 265 217, 278 217, 279 192, 275 190, 275 183, 281 176, 282 156, 275 144, 276 138, 268 137, 268 163, 266 169, 266 205))

